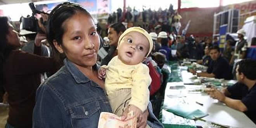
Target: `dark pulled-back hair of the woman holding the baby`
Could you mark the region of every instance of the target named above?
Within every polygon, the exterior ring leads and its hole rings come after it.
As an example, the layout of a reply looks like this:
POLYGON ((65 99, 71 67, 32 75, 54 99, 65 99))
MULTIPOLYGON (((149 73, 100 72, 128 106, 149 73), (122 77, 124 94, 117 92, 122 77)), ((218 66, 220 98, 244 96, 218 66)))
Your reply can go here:
MULTIPOLYGON (((92 17, 90 13, 84 9, 81 5, 77 3, 64 2, 57 5, 50 13, 47 21, 47 41, 52 46, 53 55, 56 61, 63 64, 64 54, 60 54, 55 48, 53 41, 56 40, 58 45, 62 45, 62 36, 65 32, 65 26, 63 23, 74 16, 78 12, 83 12, 84 14, 92 17)), ((93 19, 93 18, 92 18, 93 19)), ((86 22, 86 21, 85 21, 86 22)))

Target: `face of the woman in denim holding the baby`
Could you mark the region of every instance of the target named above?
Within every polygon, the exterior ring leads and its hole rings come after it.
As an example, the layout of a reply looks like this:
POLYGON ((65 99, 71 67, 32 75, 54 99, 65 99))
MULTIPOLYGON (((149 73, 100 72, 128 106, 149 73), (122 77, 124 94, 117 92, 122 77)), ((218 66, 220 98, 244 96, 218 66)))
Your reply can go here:
MULTIPOLYGON (((57 50, 65 53, 67 59, 78 67, 90 67, 96 64, 99 50, 99 35, 92 18, 78 12, 67 19, 62 45, 55 45, 57 50)), ((56 43, 55 43, 56 44, 56 43)))

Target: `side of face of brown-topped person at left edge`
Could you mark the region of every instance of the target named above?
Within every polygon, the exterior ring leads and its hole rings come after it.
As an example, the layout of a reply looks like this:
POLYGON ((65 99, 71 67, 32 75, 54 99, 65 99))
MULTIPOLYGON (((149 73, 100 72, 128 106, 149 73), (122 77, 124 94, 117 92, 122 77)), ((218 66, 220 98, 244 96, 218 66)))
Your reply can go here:
POLYGON ((12 47, 17 48, 21 46, 21 44, 19 43, 18 35, 16 32, 14 32, 14 29, 12 28, 12 26, 9 26, 9 33, 6 36, 6 38, 7 38, 7 42, 12 47))

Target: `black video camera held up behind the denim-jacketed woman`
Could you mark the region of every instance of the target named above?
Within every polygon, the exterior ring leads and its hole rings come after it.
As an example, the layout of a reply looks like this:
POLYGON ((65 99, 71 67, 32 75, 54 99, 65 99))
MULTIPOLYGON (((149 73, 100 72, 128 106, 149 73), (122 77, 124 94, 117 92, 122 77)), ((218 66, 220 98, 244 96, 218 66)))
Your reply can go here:
MULTIPOLYGON (((35 14, 41 14, 41 13, 48 14, 48 13, 36 10, 34 3, 29 3, 29 7, 32 10, 32 16, 26 17, 26 18, 25 17, 21 18, 21 21, 22 21, 21 29, 25 29, 27 31, 32 31, 32 32, 42 32, 42 30, 40 29, 40 27, 38 25, 38 19, 35 17, 35 14)), ((42 18, 40 18, 40 22, 45 25, 45 23, 43 23, 42 18)))

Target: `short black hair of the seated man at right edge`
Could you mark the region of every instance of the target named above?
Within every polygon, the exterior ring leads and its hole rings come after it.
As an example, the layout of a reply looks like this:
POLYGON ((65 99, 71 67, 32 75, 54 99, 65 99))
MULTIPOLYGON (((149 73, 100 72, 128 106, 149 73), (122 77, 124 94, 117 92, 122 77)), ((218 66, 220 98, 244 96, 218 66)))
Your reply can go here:
POLYGON ((256 80, 256 61, 252 59, 244 59, 238 63, 238 73, 243 73, 246 78, 256 80))

